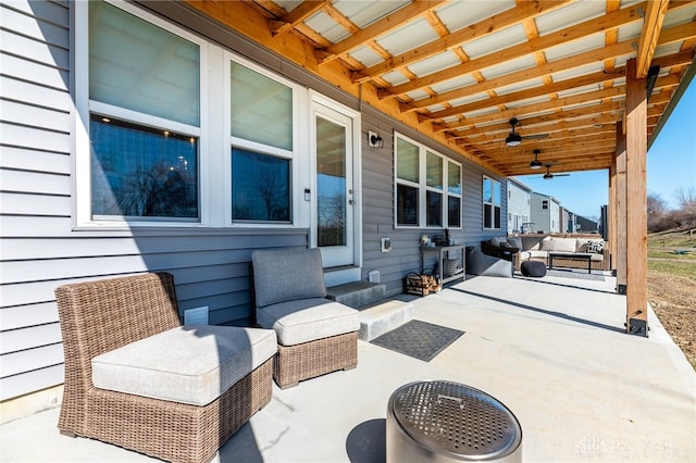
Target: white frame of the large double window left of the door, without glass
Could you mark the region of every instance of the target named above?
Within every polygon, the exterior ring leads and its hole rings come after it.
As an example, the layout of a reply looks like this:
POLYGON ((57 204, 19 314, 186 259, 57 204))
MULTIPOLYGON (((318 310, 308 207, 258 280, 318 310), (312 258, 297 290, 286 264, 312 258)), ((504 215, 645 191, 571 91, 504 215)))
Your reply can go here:
POLYGON ((75 2, 74 15, 74 70, 73 87, 75 108, 73 110, 72 151, 74 180, 72 197, 75 214, 73 229, 128 230, 133 227, 254 227, 254 228, 301 228, 310 225, 310 210, 301 195, 310 184, 309 153, 309 90, 268 68, 235 54, 213 42, 182 29, 154 14, 123 0, 107 0, 108 3, 130 13, 153 26, 161 27, 196 43, 200 50, 200 120, 199 126, 190 126, 124 108, 89 100, 89 2, 75 2), (293 92, 293 149, 282 150, 249 140, 232 137, 231 125, 231 61, 272 78, 291 88, 293 92), (221 95, 224 98, 221 98, 221 95), (89 118, 90 113, 105 113, 114 118, 123 118, 134 124, 163 128, 198 139, 198 220, 177 217, 138 220, 138 217, 92 217, 91 210, 91 157, 89 118), (263 154, 289 159, 290 171, 290 221, 232 222, 232 145, 263 154))

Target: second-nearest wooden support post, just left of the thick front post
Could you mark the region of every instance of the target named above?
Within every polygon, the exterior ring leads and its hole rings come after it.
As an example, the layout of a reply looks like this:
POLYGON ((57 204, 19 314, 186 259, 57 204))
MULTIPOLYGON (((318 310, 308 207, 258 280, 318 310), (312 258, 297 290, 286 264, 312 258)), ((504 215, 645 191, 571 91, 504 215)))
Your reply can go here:
POLYGON ((617 268, 617 292, 626 293, 626 135, 623 132, 623 123, 617 124, 617 178, 616 178, 616 252, 614 265, 617 268))

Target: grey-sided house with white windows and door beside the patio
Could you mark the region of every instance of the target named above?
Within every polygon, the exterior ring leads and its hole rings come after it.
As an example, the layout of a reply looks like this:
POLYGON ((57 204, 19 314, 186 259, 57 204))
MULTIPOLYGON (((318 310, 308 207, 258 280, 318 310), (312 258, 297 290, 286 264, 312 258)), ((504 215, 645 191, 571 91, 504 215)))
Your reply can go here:
POLYGON ((244 325, 254 249, 319 247, 328 285, 376 270, 396 295, 421 235, 505 235, 505 178, 212 21, 160 15, 184 2, 145 4, 0 7, 0 400, 63 383, 66 283, 171 272, 182 312, 244 325))

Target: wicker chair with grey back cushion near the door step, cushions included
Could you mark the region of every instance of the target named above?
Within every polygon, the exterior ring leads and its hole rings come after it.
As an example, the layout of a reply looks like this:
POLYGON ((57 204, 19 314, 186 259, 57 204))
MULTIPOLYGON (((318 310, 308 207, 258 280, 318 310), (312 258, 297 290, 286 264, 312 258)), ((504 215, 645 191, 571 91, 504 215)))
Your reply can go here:
POLYGON ((358 311, 326 299, 321 251, 252 253, 257 323, 273 328, 281 388, 358 365, 358 311))

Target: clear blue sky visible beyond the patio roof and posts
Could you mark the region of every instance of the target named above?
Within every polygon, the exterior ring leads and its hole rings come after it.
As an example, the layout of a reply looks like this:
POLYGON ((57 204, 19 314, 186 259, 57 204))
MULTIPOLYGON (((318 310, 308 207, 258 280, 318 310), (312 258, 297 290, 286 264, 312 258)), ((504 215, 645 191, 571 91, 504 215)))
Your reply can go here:
MULTIPOLYGON (((573 172, 568 177, 551 180, 544 180, 539 174, 517 178, 587 218, 598 218, 601 207, 609 202, 609 172, 606 170, 573 172)), ((648 193, 659 195, 669 209, 678 209, 675 191, 679 188, 696 189, 696 78, 648 151, 647 179, 648 193)))

